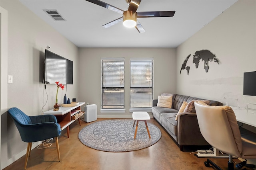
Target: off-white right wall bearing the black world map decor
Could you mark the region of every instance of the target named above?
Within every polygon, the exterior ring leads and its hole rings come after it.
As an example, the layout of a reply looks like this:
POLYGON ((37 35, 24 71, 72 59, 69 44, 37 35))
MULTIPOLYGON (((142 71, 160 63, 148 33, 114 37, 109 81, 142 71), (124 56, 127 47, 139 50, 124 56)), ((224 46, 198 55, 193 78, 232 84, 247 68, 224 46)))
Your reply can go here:
POLYGON ((239 0, 177 48, 177 93, 230 106, 246 107, 256 97, 243 96, 243 73, 256 71, 256 1, 239 0), (206 73, 200 61, 192 63, 196 51, 207 49, 220 64, 210 62, 206 73), (180 68, 191 54, 189 75, 180 68))

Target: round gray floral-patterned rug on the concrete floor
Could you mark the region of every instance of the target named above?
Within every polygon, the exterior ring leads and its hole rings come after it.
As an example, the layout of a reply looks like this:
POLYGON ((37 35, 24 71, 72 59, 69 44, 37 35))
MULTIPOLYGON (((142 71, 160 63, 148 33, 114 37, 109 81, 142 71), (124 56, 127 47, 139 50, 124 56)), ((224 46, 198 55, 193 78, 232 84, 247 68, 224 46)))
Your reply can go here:
POLYGON ((151 139, 144 121, 139 121, 136 139, 136 123, 133 119, 111 119, 92 123, 78 134, 79 140, 86 146, 107 152, 127 152, 150 147, 157 143, 162 133, 158 127, 148 124, 151 139))

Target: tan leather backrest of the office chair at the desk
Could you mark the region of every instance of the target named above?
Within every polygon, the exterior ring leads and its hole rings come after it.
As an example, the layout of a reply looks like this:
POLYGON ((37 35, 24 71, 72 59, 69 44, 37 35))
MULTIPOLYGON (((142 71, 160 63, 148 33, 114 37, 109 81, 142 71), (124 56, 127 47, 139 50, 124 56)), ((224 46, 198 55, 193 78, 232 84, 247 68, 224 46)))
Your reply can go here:
POLYGON ((229 106, 208 106, 195 102, 198 125, 204 139, 232 156, 241 156, 242 139, 236 115, 229 106))

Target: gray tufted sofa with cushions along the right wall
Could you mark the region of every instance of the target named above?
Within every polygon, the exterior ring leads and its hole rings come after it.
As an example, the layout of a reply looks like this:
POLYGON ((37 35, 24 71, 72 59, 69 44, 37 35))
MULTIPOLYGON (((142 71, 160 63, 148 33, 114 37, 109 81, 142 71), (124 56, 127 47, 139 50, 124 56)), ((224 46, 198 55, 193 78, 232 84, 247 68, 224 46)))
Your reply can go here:
MULTIPOLYGON (((168 95, 168 94, 162 94, 168 95)), ((157 107, 158 99, 152 100, 152 115, 171 137, 180 145, 180 150, 186 145, 209 145, 198 126, 196 113, 179 113, 178 119, 175 120, 183 101, 191 102, 192 100, 205 100, 190 96, 173 94, 172 108, 157 107)), ((222 106, 223 104, 210 100, 212 106, 222 106)))

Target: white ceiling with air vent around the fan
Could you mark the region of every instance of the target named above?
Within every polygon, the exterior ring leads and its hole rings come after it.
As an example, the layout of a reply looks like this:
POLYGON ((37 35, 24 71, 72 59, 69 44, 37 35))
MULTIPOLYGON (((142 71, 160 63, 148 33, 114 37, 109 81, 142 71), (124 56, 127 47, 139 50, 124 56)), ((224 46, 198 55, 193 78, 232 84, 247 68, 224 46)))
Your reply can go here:
MULTIPOLYGON (((102 0, 127 10, 125 0, 102 0)), ((122 17, 86 0, 20 0, 42 20, 77 47, 175 48, 228 9, 237 0, 142 0, 137 12, 176 11, 173 17, 138 18, 145 29, 126 28, 122 22, 102 25, 122 17), (66 21, 55 21, 43 10, 58 10, 66 21)))

